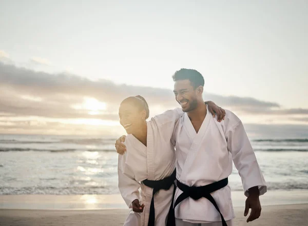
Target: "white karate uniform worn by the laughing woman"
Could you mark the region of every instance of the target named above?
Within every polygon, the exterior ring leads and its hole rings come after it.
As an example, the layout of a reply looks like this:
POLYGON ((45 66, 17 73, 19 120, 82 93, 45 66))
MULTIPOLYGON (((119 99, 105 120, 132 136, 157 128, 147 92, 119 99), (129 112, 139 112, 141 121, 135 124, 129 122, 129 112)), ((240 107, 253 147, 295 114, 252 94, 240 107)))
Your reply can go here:
MULTIPOLYGON (((148 224, 152 188, 141 181, 161 180, 170 176, 176 168, 174 145, 171 143, 175 124, 183 115, 180 108, 169 110, 147 121, 147 147, 136 137, 129 134, 125 139, 126 152, 119 155, 118 175, 119 189, 127 206, 135 199, 144 204, 143 212, 134 213, 132 210, 124 225, 144 226, 148 224), (141 194, 139 188, 141 187, 141 194)), ((160 190, 155 194, 155 218, 157 226, 166 225, 174 186, 169 190, 160 190)))

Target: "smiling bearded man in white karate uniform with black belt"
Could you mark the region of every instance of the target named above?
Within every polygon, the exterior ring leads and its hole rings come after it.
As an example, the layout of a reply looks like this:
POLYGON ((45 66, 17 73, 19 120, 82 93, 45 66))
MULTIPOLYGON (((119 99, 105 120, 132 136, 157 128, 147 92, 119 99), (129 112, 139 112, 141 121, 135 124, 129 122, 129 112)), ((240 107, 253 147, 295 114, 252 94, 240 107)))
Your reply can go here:
POLYGON ((210 117, 202 94, 204 78, 196 70, 177 71, 174 93, 185 112, 173 134, 177 157, 175 216, 177 226, 232 225, 234 216, 227 177, 232 161, 247 196, 247 222, 260 216, 259 195, 266 185, 241 120, 226 110, 223 121, 210 117))

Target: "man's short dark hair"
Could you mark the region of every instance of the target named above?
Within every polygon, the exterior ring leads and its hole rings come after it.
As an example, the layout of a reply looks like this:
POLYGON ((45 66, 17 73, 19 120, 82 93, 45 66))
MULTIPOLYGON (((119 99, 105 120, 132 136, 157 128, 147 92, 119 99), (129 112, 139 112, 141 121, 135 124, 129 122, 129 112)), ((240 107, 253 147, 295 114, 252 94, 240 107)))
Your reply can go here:
POLYGON ((194 86, 194 89, 199 86, 204 86, 204 78, 202 74, 194 69, 182 68, 181 70, 176 71, 176 73, 172 76, 172 79, 174 81, 188 79, 192 86, 194 86))

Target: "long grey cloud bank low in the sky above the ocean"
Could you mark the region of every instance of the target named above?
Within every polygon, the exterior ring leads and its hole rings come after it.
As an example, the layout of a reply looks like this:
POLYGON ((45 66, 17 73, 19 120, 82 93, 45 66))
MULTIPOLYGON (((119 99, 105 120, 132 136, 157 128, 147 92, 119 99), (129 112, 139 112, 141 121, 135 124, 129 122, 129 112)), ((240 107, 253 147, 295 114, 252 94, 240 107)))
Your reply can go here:
MULTIPOLYGON (((0 63, 0 114, 118 120, 121 101, 134 95, 145 97, 151 116, 179 107, 171 89, 116 85, 104 79, 91 81, 68 73, 49 74, 0 63), (90 115, 89 109, 74 109, 72 106, 82 105, 84 97, 104 102, 106 110, 99 115, 90 115)), ((245 114, 308 114, 308 109, 283 109, 276 102, 251 97, 205 93, 204 99, 245 114)))

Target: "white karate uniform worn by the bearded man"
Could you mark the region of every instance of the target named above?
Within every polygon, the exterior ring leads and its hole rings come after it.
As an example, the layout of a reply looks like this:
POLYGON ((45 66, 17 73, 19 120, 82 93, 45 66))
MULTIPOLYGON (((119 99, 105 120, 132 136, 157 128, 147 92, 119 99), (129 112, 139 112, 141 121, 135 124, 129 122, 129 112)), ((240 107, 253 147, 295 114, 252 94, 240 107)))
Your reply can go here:
MULTIPOLYGON (((172 137, 172 142, 176 142, 177 179, 187 186, 205 186, 228 177, 232 173, 233 161, 241 176, 244 194, 248 196, 248 189, 258 186, 260 195, 263 195, 266 192, 265 180, 243 124, 234 113, 225 111, 225 119, 218 122, 207 109, 198 133, 187 113, 180 118, 172 137)), ((180 194, 182 191, 177 188, 175 200, 180 194)), ((211 195, 224 219, 233 219, 229 185, 211 195)), ((184 199, 176 207, 175 216, 190 223, 221 222, 219 212, 206 198, 184 199)))

